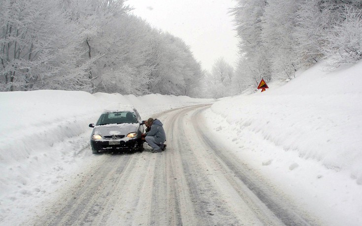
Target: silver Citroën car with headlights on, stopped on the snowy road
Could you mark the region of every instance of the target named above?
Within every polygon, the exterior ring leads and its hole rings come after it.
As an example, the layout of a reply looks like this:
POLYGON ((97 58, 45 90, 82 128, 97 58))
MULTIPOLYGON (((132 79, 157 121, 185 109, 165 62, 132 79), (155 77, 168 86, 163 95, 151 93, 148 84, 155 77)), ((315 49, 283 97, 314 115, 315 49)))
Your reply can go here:
POLYGON ((143 151, 141 134, 144 126, 136 109, 103 112, 91 134, 93 154, 100 151, 119 150, 122 152, 143 151))

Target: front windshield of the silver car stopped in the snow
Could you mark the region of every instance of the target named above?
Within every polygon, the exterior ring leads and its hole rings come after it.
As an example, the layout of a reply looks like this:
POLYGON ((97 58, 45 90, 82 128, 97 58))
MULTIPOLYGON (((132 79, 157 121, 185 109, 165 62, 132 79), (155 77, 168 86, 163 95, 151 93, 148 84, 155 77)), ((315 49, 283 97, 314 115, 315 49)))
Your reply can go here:
POLYGON ((99 117, 97 126, 122 123, 137 123, 136 116, 129 111, 103 113, 99 117))

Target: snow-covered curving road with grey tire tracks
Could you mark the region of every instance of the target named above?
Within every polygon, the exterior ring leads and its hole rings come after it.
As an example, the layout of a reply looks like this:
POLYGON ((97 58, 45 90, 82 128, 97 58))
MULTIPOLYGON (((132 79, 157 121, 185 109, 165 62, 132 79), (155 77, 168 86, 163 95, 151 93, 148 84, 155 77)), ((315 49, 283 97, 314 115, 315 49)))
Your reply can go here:
POLYGON ((208 136, 202 118, 207 108, 154 116, 167 134, 163 153, 153 154, 145 144, 143 153, 88 158, 81 176, 69 178, 29 225, 319 225, 208 136))

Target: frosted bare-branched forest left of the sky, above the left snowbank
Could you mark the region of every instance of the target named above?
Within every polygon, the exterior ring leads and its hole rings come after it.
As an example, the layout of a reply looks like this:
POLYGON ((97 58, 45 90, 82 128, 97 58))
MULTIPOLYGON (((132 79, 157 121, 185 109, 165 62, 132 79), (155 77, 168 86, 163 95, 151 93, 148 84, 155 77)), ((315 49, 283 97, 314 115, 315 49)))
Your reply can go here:
POLYGON ((181 38, 124 0, 0 0, 0 91, 197 96, 204 71, 181 38))

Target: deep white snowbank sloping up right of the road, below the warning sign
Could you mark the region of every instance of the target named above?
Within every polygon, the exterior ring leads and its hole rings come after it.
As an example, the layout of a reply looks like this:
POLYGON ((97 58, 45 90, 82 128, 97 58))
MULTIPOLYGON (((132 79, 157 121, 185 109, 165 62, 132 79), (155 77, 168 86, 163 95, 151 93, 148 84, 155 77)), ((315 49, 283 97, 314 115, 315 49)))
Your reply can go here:
POLYGON ((207 117, 238 157, 331 225, 362 224, 362 62, 315 65, 284 86, 224 98, 207 117))

